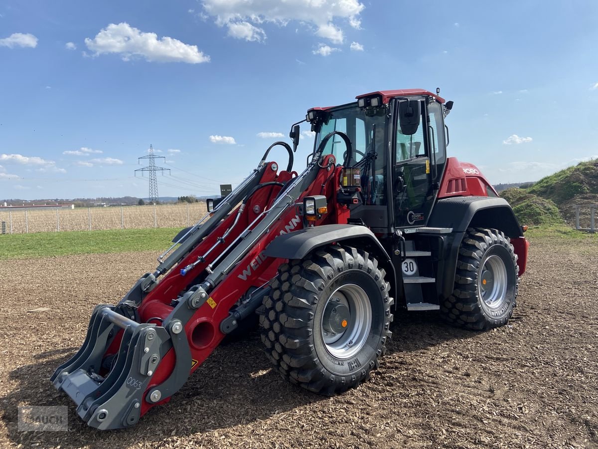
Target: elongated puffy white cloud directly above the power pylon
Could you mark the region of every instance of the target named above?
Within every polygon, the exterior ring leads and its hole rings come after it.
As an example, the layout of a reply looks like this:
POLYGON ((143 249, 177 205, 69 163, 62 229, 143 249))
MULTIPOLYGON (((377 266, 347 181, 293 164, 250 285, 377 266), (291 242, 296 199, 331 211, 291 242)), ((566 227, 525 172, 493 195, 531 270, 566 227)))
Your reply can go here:
POLYGON ((187 62, 196 64, 209 62, 210 57, 197 49, 197 45, 184 44, 171 37, 158 40, 155 33, 144 33, 128 23, 111 23, 93 39, 86 38, 85 44, 94 56, 119 53, 124 61, 133 57, 144 57, 148 62, 187 62))

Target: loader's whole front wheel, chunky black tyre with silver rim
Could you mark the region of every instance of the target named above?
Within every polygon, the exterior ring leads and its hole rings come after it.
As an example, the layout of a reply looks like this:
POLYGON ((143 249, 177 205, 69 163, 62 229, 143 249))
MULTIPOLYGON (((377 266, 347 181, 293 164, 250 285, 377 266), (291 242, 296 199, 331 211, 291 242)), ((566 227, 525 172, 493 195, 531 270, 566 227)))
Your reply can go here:
POLYGON ((391 335, 385 275, 370 254, 340 245, 280 266, 260 318, 280 374, 321 395, 367 380, 391 335))

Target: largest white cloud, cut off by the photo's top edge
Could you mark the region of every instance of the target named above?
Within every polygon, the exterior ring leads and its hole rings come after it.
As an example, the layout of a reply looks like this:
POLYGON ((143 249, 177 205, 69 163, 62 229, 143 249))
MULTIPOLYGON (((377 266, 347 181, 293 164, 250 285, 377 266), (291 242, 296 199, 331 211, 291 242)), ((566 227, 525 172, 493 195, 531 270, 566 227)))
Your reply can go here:
MULTIPOLYGON (((259 31, 258 35, 264 39, 266 32, 263 28, 257 28, 257 25, 269 22, 286 26, 289 22, 296 21, 315 29, 316 35, 329 39, 334 44, 344 41, 341 23, 349 23, 355 29, 361 28, 359 14, 365 8, 359 0, 202 0, 202 5, 216 25, 228 27, 229 34, 231 25, 247 24, 255 26, 259 31)), ((255 31, 247 25, 243 25, 246 31, 255 31)), ((240 38, 246 39, 245 36, 240 38)))

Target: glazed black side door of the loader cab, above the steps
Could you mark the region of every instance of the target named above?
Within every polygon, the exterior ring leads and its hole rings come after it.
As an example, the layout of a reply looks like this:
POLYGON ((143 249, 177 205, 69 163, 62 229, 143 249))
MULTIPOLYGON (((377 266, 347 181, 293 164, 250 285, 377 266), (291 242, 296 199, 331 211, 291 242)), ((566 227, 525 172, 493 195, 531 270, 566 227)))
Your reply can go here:
POLYGON ((393 138, 393 209, 395 227, 425 226, 438 192, 444 169, 444 125, 441 105, 419 99, 419 125, 405 134, 395 101, 393 138), (413 131, 413 130, 412 130, 413 131))

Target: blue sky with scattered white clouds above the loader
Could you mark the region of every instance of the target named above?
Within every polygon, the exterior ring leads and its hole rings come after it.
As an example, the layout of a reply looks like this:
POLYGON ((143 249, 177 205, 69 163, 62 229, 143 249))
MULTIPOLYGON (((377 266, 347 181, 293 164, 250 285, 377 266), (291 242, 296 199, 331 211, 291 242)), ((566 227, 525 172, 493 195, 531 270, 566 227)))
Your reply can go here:
POLYGON ((538 180, 598 154, 597 19, 590 0, 5 0, 0 198, 147 196, 149 144, 161 196, 216 193, 307 108, 414 87, 454 101, 451 156, 538 180))

